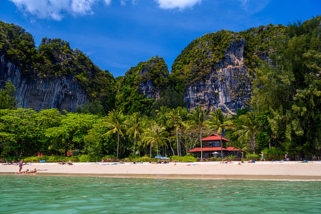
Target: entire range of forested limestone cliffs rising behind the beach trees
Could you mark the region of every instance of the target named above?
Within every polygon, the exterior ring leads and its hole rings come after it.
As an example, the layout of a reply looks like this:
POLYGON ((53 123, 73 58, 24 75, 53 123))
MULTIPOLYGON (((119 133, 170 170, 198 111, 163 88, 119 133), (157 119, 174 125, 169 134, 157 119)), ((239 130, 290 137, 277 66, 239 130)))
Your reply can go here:
POLYGON ((183 49, 170 72, 163 58, 155 56, 113 78, 68 42, 45 38, 36 47, 20 26, 0 21, 0 88, 11 80, 20 107, 37 110, 76 111, 95 103, 105 113, 118 107, 148 114, 164 105, 235 113, 248 106, 255 68, 277 52, 274 41, 285 36, 286 28, 269 24, 205 34, 183 49))

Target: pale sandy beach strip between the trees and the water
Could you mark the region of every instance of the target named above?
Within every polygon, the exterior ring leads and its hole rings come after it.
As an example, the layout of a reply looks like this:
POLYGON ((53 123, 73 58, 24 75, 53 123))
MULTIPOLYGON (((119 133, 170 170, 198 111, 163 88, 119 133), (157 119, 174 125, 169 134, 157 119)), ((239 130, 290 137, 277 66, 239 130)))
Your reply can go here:
MULTIPOLYGON (((256 163, 29 163, 23 170, 36 175, 86 175, 131 178, 321 180, 321 161, 308 163, 263 161, 256 163)), ((18 165, 0 165, 0 174, 18 172, 18 165)), ((30 174, 28 174, 30 175, 30 174)))

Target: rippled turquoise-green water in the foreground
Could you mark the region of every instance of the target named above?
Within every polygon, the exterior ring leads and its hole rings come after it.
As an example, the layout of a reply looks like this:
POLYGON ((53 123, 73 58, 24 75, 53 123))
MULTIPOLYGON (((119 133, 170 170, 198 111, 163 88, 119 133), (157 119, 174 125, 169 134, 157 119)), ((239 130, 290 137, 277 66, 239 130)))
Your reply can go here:
POLYGON ((0 213, 321 213, 321 182, 0 175, 0 213))

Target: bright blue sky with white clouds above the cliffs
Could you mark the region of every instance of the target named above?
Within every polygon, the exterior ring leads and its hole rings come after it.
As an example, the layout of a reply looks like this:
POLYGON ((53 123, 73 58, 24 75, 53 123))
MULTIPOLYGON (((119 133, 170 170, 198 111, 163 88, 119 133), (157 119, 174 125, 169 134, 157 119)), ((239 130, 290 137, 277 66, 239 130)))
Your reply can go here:
POLYGON ((113 76, 161 56, 169 70, 180 52, 204 34, 305 21, 321 1, 282 0, 1 0, 0 20, 41 39, 60 38, 113 76))

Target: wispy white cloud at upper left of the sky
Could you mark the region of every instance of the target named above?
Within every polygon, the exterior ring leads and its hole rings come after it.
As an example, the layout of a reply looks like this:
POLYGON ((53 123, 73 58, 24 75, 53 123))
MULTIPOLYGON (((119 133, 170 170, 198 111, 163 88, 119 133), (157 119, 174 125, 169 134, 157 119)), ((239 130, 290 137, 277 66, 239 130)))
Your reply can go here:
MULTIPOLYGON (((99 0, 10 0, 20 11, 39 19, 61 21, 65 14, 93 14, 91 6, 99 0)), ((104 0, 110 4, 111 0, 104 0)))

